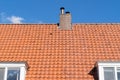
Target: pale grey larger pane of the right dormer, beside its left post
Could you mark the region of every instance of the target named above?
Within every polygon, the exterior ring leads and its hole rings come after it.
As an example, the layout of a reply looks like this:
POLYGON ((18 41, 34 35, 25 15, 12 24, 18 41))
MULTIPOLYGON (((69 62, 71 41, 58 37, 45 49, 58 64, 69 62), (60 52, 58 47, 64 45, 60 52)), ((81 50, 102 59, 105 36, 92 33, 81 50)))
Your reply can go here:
POLYGON ((113 67, 104 67, 104 80, 115 80, 113 67))

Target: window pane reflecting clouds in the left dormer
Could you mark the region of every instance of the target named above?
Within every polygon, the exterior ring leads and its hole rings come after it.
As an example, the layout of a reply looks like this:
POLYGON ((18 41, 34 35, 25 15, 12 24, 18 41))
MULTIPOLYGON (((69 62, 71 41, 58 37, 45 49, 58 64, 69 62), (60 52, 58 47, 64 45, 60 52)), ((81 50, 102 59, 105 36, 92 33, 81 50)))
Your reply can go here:
POLYGON ((8 68, 7 80, 20 80, 20 68, 8 68))

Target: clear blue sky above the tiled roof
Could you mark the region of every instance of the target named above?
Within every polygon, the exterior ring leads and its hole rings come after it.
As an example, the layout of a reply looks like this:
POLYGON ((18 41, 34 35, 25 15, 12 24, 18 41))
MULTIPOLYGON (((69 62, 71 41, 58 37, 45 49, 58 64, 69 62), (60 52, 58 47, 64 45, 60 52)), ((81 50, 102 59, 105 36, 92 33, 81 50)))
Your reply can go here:
POLYGON ((120 22, 120 0, 0 0, 0 23, 58 23, 62 6, 73 23, 120 22))

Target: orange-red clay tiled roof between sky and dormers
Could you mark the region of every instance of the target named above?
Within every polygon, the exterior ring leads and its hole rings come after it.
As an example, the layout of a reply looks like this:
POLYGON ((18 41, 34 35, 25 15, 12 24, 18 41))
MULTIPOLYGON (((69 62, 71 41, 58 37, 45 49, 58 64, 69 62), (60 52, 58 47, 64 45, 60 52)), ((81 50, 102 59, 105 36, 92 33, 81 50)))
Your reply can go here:
POLYGON ((120 24, 1 24, 0 61, 26 61, 26 80, 94 80, 97 61, 120 59, 120 24))

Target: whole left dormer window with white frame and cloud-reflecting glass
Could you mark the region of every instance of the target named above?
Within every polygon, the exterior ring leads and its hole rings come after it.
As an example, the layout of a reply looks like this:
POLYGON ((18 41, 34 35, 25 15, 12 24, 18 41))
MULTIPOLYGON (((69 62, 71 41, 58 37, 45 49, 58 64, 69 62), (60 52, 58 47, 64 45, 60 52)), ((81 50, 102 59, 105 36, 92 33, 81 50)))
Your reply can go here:
POLYGON ((1 62, 0 80, 25 80, 26 63, 1 62))

